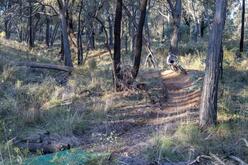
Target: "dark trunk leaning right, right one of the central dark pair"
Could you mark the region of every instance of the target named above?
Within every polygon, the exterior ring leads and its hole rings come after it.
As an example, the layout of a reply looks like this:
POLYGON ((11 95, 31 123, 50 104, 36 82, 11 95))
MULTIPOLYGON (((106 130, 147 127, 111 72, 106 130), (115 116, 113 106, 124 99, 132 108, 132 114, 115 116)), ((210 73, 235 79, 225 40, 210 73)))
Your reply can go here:
POLYGON ((135 79, 139 72, 140 61, 141 61, 141 52, 142 52, 142 41, 143 41, 143 27, 146 20, 146 6, 148 0, 142 0, 140 6, 140 20, 137 29, 136 35, 136 43, 135 43, 135 50, 134 50, 134 64, 133 64, 133 79, 135 79))

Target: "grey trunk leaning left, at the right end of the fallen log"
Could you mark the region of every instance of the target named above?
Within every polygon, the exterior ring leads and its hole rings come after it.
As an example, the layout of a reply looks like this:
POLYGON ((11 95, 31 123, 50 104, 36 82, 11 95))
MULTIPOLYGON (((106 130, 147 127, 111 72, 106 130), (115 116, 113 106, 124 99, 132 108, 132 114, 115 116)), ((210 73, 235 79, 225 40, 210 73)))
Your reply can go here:
POLYGON ((61 20, 61 31, 63 35, 63 49, 64 49, 64 58, 65 58, 65 66, 73 66, 71 60, 71 49, 69 43, 69 34, 67 31, 67 21, 65 17, 67 4, 65 0, 57 0, 59 4, 59 16, 61 20))

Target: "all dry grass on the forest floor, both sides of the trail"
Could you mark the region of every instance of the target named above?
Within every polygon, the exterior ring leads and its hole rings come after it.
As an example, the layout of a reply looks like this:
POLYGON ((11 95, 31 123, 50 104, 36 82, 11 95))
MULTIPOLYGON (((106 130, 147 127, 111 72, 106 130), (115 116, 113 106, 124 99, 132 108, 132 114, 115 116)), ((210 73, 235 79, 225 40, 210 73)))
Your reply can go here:
MULTIPOLYGON (((113 94, 111 78, 111 60, 109 56, 89 60, 86 65, 76 67, 65 85, 57 79, 66 75, 47 70, 35 70, 25 67, 13 67, 8 62, 15 60, 35 60, 59 63, 58 50, 29 51, 24 44, 1 40, 0 46, 0 164, 28 156, 11 145, 10 139, 25 137, 37 129, 48 130, 62 136, 79 135, 95 130, 94 124, 107 119, 123 119, 116 112, 120 107, 135 107, 147 100, 142 93, 113 94), (115 114, 115 116, 111 116, 115 114)), ((189 48, 182 45, 184 51, 189 48)), ((201 48, 182 56, 180 61, 187 69, 204 70, 205 53, 201 48)), ((160 69, 163 68, 166 49, 158 52, 160 69), (160 52, 160 53, 159 53, 160 52)), ((190 50, 191 51, 191 50, 190 50)), ((97 51, 98 52, 98 51, 97 51)), ((89 56, 94 53, 90 52, 89 56)), ((175 132, 157 133, 153 137, 153 146, 141 153, 148 160, 158 162, 176 162, 195 160, 199 155, 216 157, 228 163, 228 156, 247 160, 248 148, 244 141, 248 139, 248 73, 247 58, 236 61, 234 52, 225 51, 224 78, 220 84, 219 124, 202 132, 196 123, 186 121, 175 132), (210 155, 210 153, 212 155, 210 155)), ((142 67, 141 73, 149 70, 142 67)), ((197 79, 197 78, 196 78, 197 79)), ((142 81, 142 80, 141 80, 142 81)), ((149 79, 149 83, 153 84, 149 79)), ((197 82, 197 86, 200 86, 197 82)), ((102 124, 103 125, 103 124, 102 124)), ((104 125, 103 125, 104 126, 104 125)), ((101 144, 121 141, 115 134, 102 134, 101 144)), ((95 144, 97 145, 97 143, 95 144)), ((214 158, 215 157, 215 158, 214 158)))

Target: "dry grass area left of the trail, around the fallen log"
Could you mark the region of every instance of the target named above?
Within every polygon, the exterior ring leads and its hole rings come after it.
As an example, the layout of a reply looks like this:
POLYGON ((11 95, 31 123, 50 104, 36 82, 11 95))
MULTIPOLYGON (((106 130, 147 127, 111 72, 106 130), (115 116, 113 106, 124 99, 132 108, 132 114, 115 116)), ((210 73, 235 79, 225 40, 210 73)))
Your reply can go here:
POLYGON ((101 95, 111 89, 107 60, 76 67, 69 78, 56 71, 9 65, 30 60, 59 63, 54 54, 57 50, 44 50, 42 46, 28 50, 25 44, 1 39, 0 164, 29 155, 12 146, 9 139, 25 138, 40 130, 61 136, 82 135, 89 121, 102 121, 106 116, 101 95))

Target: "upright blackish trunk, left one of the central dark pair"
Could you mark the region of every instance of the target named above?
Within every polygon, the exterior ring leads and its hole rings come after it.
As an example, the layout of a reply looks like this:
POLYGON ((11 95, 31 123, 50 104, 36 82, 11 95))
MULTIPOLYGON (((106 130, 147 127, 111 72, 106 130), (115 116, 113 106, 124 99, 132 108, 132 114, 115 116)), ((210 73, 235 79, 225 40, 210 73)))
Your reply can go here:
POLYGON ((114 78, 115 87, 119 86, 117 79, 122 79, 121 70, 121 20, 122 20, 122 0, 117 0, 114 25, 114 78))

